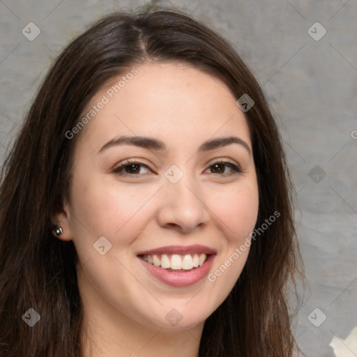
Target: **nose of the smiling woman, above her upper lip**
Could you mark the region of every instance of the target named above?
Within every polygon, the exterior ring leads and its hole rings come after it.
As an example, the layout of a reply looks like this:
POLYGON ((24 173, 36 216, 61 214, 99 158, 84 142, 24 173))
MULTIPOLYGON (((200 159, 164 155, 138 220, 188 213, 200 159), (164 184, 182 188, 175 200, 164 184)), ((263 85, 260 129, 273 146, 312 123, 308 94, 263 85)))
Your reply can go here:
POLYGON ((204 226, 209 220, 203 190, 193 179, 184 175, 178 182, 166 181, 161 190, 158 223, 183 233, 204 226))

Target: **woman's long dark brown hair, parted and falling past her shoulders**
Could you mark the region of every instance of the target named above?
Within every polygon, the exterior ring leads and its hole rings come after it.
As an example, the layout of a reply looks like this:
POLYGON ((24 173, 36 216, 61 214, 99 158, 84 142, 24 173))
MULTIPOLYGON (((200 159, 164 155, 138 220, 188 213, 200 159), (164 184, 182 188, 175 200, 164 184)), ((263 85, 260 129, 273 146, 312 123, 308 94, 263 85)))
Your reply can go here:
POLYGON ((112 13, 73 40, 54 62, 1 170, 0 356, 76 357, 83 306, 72 241, 51 234, 69 199, 77 141, 66 137, 109 78, 144 61, 183 61, 222 79, 245 113, 259 187, 256 227, 280 217, 252 239, 248 261, 227 299, 206 320, 200 357, 291 357, 291 332, 303 264, 293 221, 292 185, 278 128, 255 77, 226 40, 177 10, 112 13), (291 289, 292 288, 292 289, 291 289), (33 308, 33 327, 22 316, 33 308))

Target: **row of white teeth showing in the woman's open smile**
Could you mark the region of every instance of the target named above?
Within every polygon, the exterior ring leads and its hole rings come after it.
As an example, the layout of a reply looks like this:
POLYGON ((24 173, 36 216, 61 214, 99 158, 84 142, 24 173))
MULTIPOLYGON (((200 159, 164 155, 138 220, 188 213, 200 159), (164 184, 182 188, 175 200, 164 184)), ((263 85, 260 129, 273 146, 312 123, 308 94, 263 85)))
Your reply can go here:
POLYGON ((202 266, 210 255, 205 253, 195 253, 186 255, 139 255, 138 257, 153 266, 158 266, 167 271, 183 272, 192 271, 199 266, 202 266))

